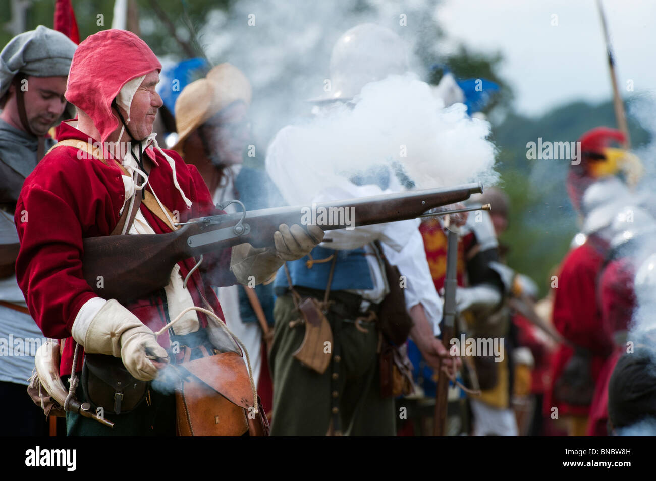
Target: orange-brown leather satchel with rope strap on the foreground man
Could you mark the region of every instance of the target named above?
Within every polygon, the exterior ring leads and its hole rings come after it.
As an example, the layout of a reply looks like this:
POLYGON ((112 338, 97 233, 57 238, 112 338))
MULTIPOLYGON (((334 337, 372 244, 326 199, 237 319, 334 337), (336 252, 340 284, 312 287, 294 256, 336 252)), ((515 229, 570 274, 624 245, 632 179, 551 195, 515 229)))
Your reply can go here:
POLYGON ((253 391, 243 358, 234 352, 188 360, 176 366, 183 374, 176 389, 178 436, 268 436, 269 424, 253 391))

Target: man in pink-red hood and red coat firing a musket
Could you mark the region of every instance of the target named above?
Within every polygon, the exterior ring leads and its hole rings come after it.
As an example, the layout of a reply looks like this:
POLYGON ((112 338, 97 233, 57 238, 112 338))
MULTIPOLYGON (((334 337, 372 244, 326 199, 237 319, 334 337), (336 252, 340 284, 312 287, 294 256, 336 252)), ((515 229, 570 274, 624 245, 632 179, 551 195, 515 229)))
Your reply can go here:
MULTIPOLYGON (((66 89, 77 123, 62 123, 60 146, 28 177, 18 199, 17 212, 26 213, 16 218, 18 284, 43 334, 66 339, 62 376, 81 371, 83 356, 73 366, 79 345, 88 354, 121 358, 136 379, 154 379, 152 359, 168 358, 173 339, 182 346, 191 345, 192 338, 194 345, 208 342, 203 336, 208 320, 192 310, 163 336, 156 338, 154 331, 193 306, 209 304, 223 318, 210 285, 246 283, 249 276, 262 282, 283 261, 301 258, 323 239, 314 226, 308 234, 298 225, 281 225, 272 239, 275 249, 239 244, 205 256, 202 274, 192 272, 193 258, 181 261, 166 288, 128 305, 94 294, 82 276, 84 238, 163 234, 176 229, 178 216, 184 222, 218 213, 197 169, 157 145, 152 126, 162 105, 155 92, 160 70, 152 50, 129 31, 100 31, 83 41, 66 89), (116 229, 134 204, 134 220, 116 229)), ((172 402, 171 394, 151 389, 147 402, 133 412, 106 414, 115 422, 113 430, 69 412, 68 433, 173 434, 172 402)))

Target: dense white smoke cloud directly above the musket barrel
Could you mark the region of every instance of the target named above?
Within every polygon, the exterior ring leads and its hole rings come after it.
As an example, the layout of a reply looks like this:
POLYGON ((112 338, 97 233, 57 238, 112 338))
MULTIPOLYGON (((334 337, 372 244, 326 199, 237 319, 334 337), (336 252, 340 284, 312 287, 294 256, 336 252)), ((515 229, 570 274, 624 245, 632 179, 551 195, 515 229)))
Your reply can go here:
POLYGON ((419 188, 497 180, 489 123, 470 119, 462 104, 443 109, 413 75, 369 83, 356 100, 354 107, 333 106, 274 141, 267 169, 274 177, 277 170, 295 172, 295 178, 276 179, 290 204, 310 202, 326 185, 394 163, 419 188))

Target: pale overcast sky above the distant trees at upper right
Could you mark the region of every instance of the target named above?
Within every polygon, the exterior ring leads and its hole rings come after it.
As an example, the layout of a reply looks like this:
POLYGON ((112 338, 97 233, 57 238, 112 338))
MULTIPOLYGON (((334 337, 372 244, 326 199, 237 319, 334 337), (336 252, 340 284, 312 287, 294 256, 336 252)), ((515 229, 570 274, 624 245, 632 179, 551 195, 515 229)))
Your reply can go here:
MULTIPOLYGON (((623 96, 656 92, 656 1, 603 0, 623 96)), ((572 100, 611 98, 596 0, 443 0, 436 18, 451 40, 501 50, 516 109, 539 115, 572 100), (554 17, 553 15, 557 17, 554 17), (558 24, 552 26, 557 20, 558 24)))

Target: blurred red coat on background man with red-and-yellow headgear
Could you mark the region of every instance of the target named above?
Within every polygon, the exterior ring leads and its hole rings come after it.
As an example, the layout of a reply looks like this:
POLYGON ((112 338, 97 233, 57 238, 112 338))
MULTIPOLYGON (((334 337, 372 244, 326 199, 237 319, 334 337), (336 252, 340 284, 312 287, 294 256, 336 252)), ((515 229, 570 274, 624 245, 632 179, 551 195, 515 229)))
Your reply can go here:
MULTIPOLYGON (((554 327, 575 345, 592 351, 592 380, 596 383, 602 364, 611 352, 611 340, 602 326, 597 300, 597 278, 603 262, 600 250, 590 240, 569 252, 558 275, 554 298, 554 327)), ((560 345, 551 364, 552 385, 544 396, 544 413, 558 408, 558 415, 588 415, 590 406, 573 406, 554 399, 554 385, 573 355, 573 349, 560 345)))

